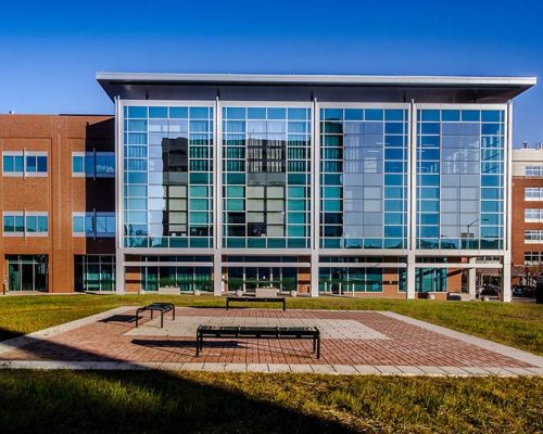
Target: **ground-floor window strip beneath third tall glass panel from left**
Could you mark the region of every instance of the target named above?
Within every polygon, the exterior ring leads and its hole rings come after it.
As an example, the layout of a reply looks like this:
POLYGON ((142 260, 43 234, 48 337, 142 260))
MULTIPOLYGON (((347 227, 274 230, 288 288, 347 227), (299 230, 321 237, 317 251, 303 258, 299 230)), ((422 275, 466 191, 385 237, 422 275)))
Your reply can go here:
POLYGON ((319 291, 344 294, 349 292, 382 292, 382 268, 319 268, 319 291))

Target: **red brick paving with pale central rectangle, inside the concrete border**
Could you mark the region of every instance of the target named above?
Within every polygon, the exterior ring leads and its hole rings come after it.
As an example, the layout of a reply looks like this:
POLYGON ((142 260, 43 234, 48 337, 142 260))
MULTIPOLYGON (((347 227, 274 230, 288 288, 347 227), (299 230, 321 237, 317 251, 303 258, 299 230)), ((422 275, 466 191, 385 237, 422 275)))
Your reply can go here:
MULTIPOLYGON (((131 363, 228 363, 228 369, 248 363, 281 366, 312 365, 314 371, 326 366, 375 366, 381 372, 394 367, 457 367, 457 368, 532 368, 521 360, 484 349, 478 345, 445 336, 421 327, 409 324, 377 311, 290 310, 278 309, 211 309, 177 308, 176 321, 184 323, 252 323, 270 324, 315 321, 325 326, 321 355, 317 360, 311 341, 298 340, 212 340, 204 343, 195 357, 191 335, 176 335, 178 327, 167 315, 164 329, 159 320, 140 320, 135 329, 136 308, 112 315, 67 332, 47 339, 37 339, 21 348, 0 354, 1 360, 62 360, 62 361, 124 361, 131 363), (182 318, 182 320, 180 320, 182 318), (191 322, 191 321, 192 322, 191 322), (345 332, 353 321, 358 330, 345 332), (147 334, 146 330, 148 331, 147 334), (319 366, 321 366, 319 368, 319 366), (384 367, 384 368, 383 368, 384 367), (390 367, 390 368, 387 368, 390 367)), ((182 324, 181 324, 182 326, 182 324)), ((189 333, 185 333, 189 334, 189 333)), ((206 365, 215 367, 215 365, 206 365)), ((216 365, 218 367, 219 365, 216 365)), ((350 367, 343 369, 351 369, 350 367)), ((294 370, 294 369, 292 369, 294 370)))

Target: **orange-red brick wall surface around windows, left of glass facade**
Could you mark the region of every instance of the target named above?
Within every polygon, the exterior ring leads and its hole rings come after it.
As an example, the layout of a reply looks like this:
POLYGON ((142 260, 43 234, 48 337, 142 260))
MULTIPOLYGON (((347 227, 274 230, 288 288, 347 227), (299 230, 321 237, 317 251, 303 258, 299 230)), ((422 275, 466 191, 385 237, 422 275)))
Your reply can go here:
MULTIPOLYGON (((74 238, 72 213, 115 210, 114 179, 73 177, 72 153, 113 152, 112 116, 1 115, 0 150, 41 151, 48 155, 46 177, 0 177, 2 210, 47 212, 48 237, 0 237, 0 276, 7 255, 48 255, 50 292, 74 291, 74 255, 114 255, 114 239, 74 238)), ((3 231, 3 226, 2 226, 3 231)))

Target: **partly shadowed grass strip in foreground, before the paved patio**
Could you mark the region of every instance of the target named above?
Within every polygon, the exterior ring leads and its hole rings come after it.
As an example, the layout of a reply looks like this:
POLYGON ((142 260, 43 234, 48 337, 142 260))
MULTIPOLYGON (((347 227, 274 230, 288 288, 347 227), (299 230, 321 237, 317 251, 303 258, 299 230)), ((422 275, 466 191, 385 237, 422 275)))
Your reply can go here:
POLYGON ((536 433, 543 379, 0 372, 2 433, 536 433))

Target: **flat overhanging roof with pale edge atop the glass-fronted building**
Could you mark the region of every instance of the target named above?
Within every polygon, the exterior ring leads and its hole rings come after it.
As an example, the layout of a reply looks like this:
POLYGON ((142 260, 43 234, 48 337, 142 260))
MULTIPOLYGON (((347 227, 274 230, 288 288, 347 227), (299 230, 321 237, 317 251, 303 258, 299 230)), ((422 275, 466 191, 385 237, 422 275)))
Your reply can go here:
POLYGON ((503 103, 536 77, 97 73, 113 100, 202 99, 503 103), (365 98, 364 98, 365 97, 365 98))

